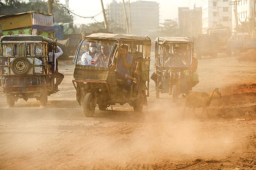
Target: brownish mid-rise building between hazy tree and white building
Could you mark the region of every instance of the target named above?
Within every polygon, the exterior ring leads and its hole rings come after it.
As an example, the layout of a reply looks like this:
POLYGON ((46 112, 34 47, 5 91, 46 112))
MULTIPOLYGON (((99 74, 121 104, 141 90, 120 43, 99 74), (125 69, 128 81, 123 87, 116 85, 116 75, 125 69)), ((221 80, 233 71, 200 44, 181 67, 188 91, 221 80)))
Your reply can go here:
POLYGON ((195 37, 202 34, 202 8, 189 9, 188 7, 179 7, 178 19, 179 30, 182 36, 195 37))

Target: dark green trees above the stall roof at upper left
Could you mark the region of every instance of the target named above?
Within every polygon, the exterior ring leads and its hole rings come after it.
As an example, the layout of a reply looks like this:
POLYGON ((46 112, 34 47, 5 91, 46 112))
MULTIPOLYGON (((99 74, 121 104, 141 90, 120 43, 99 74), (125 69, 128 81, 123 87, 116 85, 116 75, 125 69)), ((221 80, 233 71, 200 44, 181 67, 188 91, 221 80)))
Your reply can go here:
MULTIPOLYGON (((5 3, 0 2, 0 15, 12 15, 15 13, 38 11, 45 14, 48 13, 47 2, 37 0, 36 2, 20 2, 19 0, 5 0, 5 3)), ((53 14, 55 22, 73 23, 73 16, 69 15, 65 9, 53 4, 53 14)))

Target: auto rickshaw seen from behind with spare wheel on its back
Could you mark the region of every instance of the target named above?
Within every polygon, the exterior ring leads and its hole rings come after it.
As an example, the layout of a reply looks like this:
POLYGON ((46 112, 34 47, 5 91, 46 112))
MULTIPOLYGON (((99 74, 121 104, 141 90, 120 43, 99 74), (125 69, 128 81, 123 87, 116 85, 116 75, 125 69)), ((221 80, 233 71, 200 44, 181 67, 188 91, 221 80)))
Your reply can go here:
POLYGON ((13 107, 18 99, 36 98, 42 106, 54 92, 54 42, 43 36, 11 35, 0 39, 0 88, 13 107), (48 48, 52 49, 49 51, 48 48))

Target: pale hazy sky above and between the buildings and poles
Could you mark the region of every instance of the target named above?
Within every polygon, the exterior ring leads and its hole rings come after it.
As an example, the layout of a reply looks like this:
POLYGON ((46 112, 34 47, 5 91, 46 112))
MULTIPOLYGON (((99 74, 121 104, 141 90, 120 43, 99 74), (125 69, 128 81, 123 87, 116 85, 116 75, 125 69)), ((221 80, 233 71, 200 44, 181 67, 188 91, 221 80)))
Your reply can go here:
MULTIPOLYGON (((104 8, 106 4, 111 3, 112 0, 103 0, 104 8)), ((125 2, 128 0, 125 0, 125 2)), ((130 0, 130 2, 135 2, 137 0, 130 0)), ((160 23, 164 19, 175 19, 178 18, 178 7, 189 7, 193 8, 196 3, 196 7, 202 5, 202 0, 146 0, 146 1, 156 1, 159 3, 159 14, 160 23)), ((122 2, 122 0, 116 0, 117 3, 122 2)), ((65 4, 65 0, 60 0, 60 3, 65 4)), ((101 4, 100 0, 69 0, 69 9, 74 13, 84 16, 91 17, 100 13, 101 4)), ((102 13, 95 17, 95 19, 100 22, 103 21, 102 13)), ((80 17, 74 18, 74 24, 87 24, 94 22, 93 19, 85 19, 80 17)))

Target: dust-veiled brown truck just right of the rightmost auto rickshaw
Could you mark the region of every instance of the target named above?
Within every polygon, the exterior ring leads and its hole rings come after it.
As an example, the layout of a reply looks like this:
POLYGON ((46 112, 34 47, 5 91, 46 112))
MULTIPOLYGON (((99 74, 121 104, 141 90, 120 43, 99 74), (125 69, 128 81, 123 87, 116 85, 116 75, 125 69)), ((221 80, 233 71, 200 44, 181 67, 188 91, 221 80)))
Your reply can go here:
POLYGON ((212 34, 198 34, 194 39, 195 53, 197 59, 202 59, 202 56, 218 55, 218 37, 212 34))

